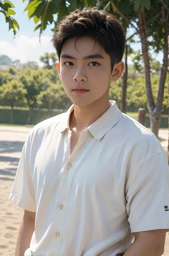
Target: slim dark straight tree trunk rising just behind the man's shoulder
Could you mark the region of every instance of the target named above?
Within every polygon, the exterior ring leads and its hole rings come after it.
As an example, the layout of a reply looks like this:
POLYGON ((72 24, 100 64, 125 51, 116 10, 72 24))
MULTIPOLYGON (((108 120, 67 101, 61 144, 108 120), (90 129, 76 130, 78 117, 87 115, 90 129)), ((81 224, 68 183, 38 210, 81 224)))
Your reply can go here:
POLYGON ((127 77, 128 77, 128 46, 126 44, 126 57, 125 57, 125 71, 123 75, 122 95, 121 95, 121 112, 126 113, 126 91, 127 91, 127 77))

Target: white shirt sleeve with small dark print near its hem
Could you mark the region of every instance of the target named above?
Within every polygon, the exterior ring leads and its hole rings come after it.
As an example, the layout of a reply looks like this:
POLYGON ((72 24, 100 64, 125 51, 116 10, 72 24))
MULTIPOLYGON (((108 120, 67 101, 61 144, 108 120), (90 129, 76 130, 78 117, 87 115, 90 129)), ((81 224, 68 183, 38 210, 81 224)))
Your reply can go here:
POLYGON ((169 166, 163 153, 149 158, 135 173, 126 200, 132 233, 169 229, 169 166))

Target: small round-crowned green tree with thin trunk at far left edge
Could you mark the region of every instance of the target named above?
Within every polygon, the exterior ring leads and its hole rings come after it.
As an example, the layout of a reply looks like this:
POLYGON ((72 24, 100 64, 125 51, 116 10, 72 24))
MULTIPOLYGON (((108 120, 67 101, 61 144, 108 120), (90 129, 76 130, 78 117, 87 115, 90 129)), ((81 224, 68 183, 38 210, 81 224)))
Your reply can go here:
POLYGON ((0 87, 0 98, 6 99, 11 106, 11 124, 14 123, 14 104, 24 100, 26 89, 18 80, 12 80, 0 87))

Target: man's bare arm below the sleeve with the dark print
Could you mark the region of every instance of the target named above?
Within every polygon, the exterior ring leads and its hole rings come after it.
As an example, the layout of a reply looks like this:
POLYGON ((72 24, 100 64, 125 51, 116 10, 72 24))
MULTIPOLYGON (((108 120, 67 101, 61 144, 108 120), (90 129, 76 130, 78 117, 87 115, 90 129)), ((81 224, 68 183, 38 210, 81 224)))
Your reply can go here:
POLYGON ((135 241, 124 253, 124 256, 162 256, 166 229, 137 232, 135 241))

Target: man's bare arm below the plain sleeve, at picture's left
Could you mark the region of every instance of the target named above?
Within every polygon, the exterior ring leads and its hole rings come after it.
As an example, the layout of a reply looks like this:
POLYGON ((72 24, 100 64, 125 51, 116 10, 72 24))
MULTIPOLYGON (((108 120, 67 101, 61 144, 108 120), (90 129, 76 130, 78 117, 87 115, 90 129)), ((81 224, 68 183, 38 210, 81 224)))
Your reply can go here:
POLYGON ((25 251, 30 247, 32 234, 35 231, 35 216, 36 213, 25 210, 17 238, 15 256, 24 256, 25 251))

